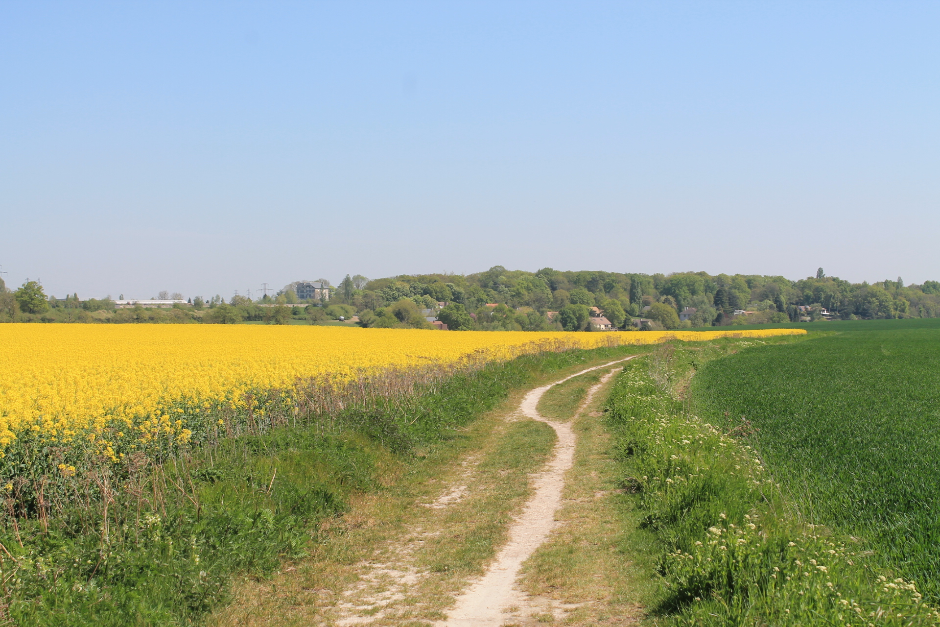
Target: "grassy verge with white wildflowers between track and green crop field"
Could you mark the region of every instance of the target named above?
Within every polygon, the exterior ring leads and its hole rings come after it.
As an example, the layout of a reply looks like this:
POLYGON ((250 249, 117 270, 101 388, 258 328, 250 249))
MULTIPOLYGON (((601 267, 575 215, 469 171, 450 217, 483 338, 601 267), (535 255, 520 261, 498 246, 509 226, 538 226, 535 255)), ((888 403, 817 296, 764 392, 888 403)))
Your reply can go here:
MULTIPOLYGON (((687 625, 917 625, 940 615, 917 585, 882 569, 865 541, 808 525, 745 445, 746 422, 720 429, 687 410, 690 373, 705 359, 770 354, 726 340, 664 346, 630 362, 615 383, 606 422, 621 485, 657 547, 662 588, 652 615, 687 625)), ((780 343, 790 343, 781 341, 780 343)), ((698 385, 698 383, 696 383, 698 385)))

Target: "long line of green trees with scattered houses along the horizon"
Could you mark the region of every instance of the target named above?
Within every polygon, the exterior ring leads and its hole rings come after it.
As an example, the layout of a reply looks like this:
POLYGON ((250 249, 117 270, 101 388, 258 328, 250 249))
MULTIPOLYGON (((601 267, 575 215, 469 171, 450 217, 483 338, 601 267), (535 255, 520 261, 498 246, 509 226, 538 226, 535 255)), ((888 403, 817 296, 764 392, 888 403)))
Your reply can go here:
MULTIPOLYGON (((331 288, 329 301, 306 302, 298 299, 293 286, 257 300, 236 295, 226 303, 216 295, 207 300, 193 297, 169 309, 116 310, 109 298, 80 300, 76 293, 55 299, 36 281, 8 290, 0 280, 0 320, 283 324, 356 316, 360 326, 378 328, 433 328, 428 319, 436 318, 452 330, 589 331, 592 307, 616 327, 650 329, 940 316, 940 282, 905 285, 898 277, 851 283, 826 276, 822 268, 798 280, 705 272, 542 268, 533 273, 503 266, 475 274, 401 274, 372 280, 347 274, 331 288)), ((181 300, 180 294, 173 296, 181 300)))

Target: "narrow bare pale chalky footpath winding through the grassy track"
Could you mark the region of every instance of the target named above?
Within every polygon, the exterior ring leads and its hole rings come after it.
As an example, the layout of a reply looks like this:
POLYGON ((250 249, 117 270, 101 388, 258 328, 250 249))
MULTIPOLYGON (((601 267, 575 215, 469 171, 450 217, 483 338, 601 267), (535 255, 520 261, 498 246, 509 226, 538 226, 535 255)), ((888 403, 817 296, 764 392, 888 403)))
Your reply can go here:
MULTIPOLYGON (((506 546, 496 555, 486 574, 457 599, 457 604, 449 612, 448 618, 437 623, 439 626, 499 627, 509 619, 508 614, 525 613, 526 606, 530 604, 529 600, 525 593, 514 588, 513 585, 523 562, 558 525, 555 513, 561 506, 565 473, 572 468, 576 440, 570 422, 555 422, 539 415, 537 410, 539 400, 553 385, 591 370, 609 368, 629 359, 633 357, 612 361, 603 366, 586 368, 553 384, 537 387, 525 395, 519 406, 520 413, 540 420, 556 431, 558 439, 553 458, 535 477, 535 494, 525 504, 522 513, 509 528, 509 541, 506 546)), ((582 408, 587 406, 591 397, 611 376, 613 376, 613 371, 605 375, 601 383, 590 388, 587 398, 581 404, 582 408)), ((545 608, 532 607, 531 609, 544 610, 545 608)))

